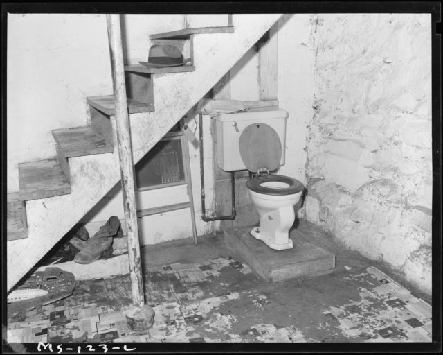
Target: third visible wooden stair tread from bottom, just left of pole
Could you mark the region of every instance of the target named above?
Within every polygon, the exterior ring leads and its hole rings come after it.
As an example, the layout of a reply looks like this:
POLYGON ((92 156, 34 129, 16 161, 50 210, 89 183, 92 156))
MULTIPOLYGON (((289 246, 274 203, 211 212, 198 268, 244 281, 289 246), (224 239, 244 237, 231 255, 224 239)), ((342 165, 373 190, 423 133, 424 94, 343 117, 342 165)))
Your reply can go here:
POLYGON ((114 151, 111 142, 98 135, 91 127, 53 130, 53 136, 66 158, 114 151))

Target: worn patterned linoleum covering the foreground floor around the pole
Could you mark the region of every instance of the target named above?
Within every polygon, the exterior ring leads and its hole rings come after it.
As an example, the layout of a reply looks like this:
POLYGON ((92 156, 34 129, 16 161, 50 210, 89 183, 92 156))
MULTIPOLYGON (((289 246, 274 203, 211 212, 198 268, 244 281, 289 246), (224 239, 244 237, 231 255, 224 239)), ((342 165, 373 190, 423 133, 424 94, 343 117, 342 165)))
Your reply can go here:
POLYGON ((276 284, 231 258, 151 268, 143 334, 121 311, 130 293, 129 275, 78 281, 43 313, 9 319, 8 343, 431 341, 431 306, 374 267, 276 284))

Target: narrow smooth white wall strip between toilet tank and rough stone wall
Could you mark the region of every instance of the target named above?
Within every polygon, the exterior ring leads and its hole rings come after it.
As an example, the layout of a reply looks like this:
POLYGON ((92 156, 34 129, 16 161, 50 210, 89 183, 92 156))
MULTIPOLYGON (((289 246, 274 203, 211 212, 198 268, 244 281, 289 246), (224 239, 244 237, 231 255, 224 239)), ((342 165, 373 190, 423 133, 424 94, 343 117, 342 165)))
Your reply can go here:
MULTIPOLYGON (((278 21, 278 101, 287 110, 286 164, 279 173, 306 186, 307 124, 314 100, 314 15, 283 15, 278 21)), ((305 207, 298 211, 305 216, 305 207)))

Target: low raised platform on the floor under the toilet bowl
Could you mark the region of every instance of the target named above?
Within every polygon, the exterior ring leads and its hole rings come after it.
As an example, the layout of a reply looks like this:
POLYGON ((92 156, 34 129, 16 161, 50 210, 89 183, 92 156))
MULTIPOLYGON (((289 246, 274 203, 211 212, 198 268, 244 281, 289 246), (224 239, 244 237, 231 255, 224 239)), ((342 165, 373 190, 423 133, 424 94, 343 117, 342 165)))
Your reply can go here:
POLYGON ((324 275, 335 268, 334 254, 297 238, 296 233, 291 233, 292 249, 277 251, 251 236, 251 229, 227 228, 224 236, 229 248, 268 282, 324 275))

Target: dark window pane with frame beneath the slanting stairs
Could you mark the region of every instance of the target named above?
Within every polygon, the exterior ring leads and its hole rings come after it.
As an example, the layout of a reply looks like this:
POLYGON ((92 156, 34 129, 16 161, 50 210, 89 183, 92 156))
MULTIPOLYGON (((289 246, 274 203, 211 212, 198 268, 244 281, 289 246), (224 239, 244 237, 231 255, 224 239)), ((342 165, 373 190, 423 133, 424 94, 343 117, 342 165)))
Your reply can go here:
POLYGON ((183 133, 174 125, 135 166, 138 191, 187 183, 183 162, 183 133))

